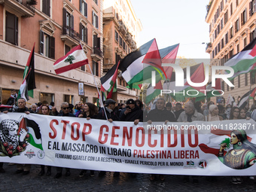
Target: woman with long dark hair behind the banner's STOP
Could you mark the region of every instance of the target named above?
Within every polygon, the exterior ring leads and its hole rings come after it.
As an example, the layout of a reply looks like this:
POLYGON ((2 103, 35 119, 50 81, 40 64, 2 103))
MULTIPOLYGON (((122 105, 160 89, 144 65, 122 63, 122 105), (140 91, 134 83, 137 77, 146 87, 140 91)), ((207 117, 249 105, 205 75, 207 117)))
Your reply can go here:
MULTIPOLYGON (((90 102, 84 103, 84 109, 81 111, 81 114, 78 115, 78 117, 84 117, 87 118, 87 120, 90 119, 96 119, 97 118, 97 113, 98 113, 98 108, 96 105, 90 102)), ((81 170, 79 177, 84 177, 85 173, 87 170, 83 169, 81 170)), ((94 170, 90 170, 90 176, 94 177, 94 170)))

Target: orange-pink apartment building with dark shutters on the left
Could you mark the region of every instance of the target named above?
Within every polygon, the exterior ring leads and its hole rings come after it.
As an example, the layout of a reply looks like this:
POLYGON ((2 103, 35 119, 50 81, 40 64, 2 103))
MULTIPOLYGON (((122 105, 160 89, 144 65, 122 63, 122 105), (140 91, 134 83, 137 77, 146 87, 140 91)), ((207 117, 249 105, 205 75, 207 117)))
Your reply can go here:
POLYGON ((96 102, 103 72, 102 10, 102 0, 0 0, 0 102, 20 89, 34 43, 36 89, 28 103, 46 100, 59 108, 62 102, 96 102), (56 75, 53 63, 78 44, 89 65, 56 75))

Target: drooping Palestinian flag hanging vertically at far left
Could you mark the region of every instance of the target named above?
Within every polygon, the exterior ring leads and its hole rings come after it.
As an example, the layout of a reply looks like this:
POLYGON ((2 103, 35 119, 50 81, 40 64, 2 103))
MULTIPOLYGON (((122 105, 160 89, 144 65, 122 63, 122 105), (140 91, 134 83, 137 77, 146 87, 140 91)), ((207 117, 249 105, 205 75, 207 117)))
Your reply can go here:
POLYGON ((20 97, 29 100, 29 96, 34 97, 33 90, 35 89, 35 43, 29 54, 28 62, 23 73, 23 83, 20 85, 18 99, 20 97))

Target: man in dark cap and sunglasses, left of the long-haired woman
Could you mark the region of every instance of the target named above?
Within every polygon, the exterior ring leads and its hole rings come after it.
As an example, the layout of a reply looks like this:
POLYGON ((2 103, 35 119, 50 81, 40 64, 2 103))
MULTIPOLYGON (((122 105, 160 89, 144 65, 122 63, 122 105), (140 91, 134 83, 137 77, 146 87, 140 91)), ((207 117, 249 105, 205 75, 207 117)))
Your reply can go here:
MULTIPOLYGON (((59 112, 57 116, 61 117, 75 117, 75 114, 72 114, 69 112, 69 103, 68 102, 62 102, 61 104, 61 110, 62 112, 59 112)), ((62 167, 56 167, 57 174, 54 176, 54 178, 60 178, 62 176, 62 167)), ((70 168, 66 168, 66 177, 70 175, 70 168)))

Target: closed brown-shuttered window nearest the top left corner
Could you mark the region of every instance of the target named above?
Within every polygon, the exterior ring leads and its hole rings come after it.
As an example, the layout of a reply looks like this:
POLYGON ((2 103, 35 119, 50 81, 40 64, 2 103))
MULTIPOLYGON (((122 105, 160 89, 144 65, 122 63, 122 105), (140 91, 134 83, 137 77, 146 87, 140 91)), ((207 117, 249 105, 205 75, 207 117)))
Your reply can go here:
POLYGON ((5 41, 18 45, 19 18, 6 11, 5 41))

